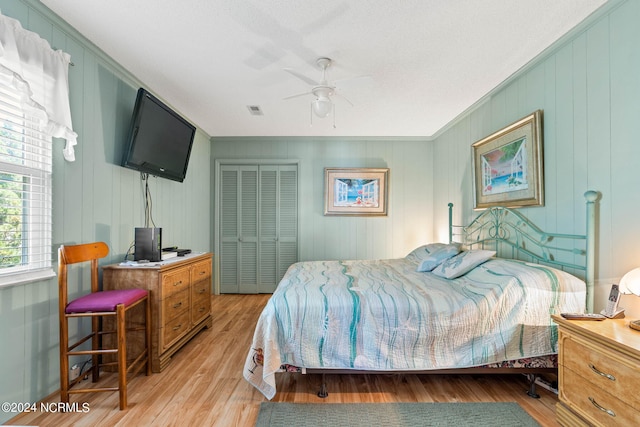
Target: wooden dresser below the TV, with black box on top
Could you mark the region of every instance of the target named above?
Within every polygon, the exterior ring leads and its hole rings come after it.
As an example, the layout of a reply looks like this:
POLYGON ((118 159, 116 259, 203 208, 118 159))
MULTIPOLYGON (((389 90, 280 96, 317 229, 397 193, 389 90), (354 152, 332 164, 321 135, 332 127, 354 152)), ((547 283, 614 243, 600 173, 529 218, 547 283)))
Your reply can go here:
MULTIPOLYGON (((142 288, 151 296, 153 372, 211 321, 212 254, 189 254, 161 263, 103 267, 103 288, 142 288)), ((132 349, 133 350, 133 349, 132 349)))

